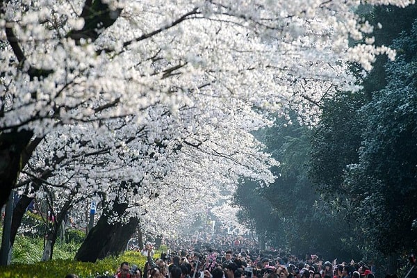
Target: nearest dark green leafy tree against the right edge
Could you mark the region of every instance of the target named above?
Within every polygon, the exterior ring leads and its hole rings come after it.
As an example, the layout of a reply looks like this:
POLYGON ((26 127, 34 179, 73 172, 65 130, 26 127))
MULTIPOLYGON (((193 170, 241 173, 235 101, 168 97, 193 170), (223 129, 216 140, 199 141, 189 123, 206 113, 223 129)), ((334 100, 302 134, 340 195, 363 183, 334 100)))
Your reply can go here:
POLYGON ((386 65, 386 87, 362 109, 360 162, 346 179, 353 211, 373 222, 364 232, 384 254, 417 249, 417 22, 393 45, 400 55, 386 65))

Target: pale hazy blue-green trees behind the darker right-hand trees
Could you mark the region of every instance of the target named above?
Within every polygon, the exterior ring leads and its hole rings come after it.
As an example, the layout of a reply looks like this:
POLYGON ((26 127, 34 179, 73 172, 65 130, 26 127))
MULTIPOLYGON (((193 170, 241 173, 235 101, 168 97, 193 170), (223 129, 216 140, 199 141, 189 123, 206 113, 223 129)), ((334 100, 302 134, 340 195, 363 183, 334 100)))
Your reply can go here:
POLYGON ((325 258, 361 259, 350 244, 352 231, 341 223, 345 210, 332 211, 333 200, 323 200, 307 178, 311 130, 284 123, 279 119, 276 126, 256 133, 280 165, 270 186, 259 188, 250 181, 238 186, 234 202, 241 208, 239 219, 252 224, 258 236, 267 235, 269 244, 300 257, 318 252, 325 258))

